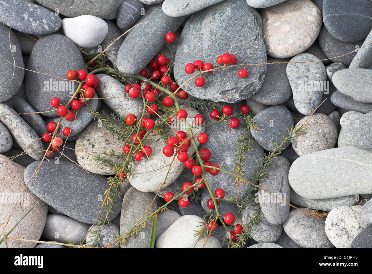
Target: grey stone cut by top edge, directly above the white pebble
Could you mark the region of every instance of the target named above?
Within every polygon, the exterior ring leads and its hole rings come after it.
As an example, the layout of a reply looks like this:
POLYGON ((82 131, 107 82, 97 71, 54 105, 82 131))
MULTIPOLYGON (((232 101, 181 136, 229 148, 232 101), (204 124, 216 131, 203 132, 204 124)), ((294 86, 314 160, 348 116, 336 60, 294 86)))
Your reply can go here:
POLYGON ((36 0, 43 6, 67 17, 94 15, 106 18, 116 7, 115 0, 36 0))

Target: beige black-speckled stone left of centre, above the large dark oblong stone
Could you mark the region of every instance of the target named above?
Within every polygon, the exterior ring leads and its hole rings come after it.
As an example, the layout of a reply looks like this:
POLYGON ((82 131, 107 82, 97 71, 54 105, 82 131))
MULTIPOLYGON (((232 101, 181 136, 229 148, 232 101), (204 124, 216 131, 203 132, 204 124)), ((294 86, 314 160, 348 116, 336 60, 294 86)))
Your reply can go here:
POLYGON ((122 153, 123 142, 118 140, 116 136, 112 136, 109 130, 106 130, 97 121, 93 121, 84 128, 76 140, 75 154, 77 161, 83 169, 92 173, 102 175, 115 174, 110 167, 95 161, 95 155, 101 158, 105 157, 106 160, 110 159, 119 166, 124 163, 124 156, 120 160, 116 160, 115 157, 107 157, 106 154, 109 154, 109 151, 114 151, 116 155, 122 153))

